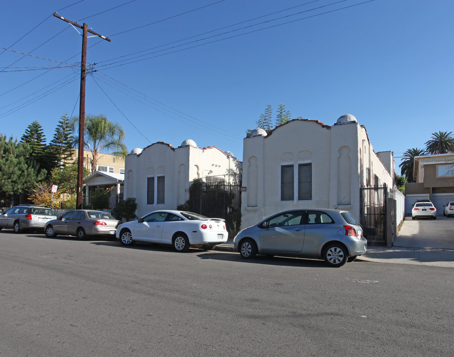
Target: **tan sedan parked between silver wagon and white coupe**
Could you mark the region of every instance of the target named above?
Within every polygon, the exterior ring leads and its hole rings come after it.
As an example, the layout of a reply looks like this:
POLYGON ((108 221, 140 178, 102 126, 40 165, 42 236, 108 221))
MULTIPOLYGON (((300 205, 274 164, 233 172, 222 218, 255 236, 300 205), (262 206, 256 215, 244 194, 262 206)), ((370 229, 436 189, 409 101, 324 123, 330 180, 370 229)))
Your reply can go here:
POLYGON ((74 210, 65 213, 56 220, 49 221, 44 232, 49 238, 57 235, 77 236, 79 239, 99 235, 114 238, 120 223, 107 212, 74 210))

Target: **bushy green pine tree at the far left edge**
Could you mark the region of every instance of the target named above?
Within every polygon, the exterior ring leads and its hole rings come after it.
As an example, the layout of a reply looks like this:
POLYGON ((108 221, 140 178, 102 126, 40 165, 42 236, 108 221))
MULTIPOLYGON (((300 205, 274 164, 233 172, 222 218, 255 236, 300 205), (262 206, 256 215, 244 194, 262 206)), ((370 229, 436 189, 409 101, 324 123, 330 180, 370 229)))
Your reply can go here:
POLYGON ((30 159, 30 145, 13 141, 0 134, 0 198, 10 200, 17 194, 25 193, 36 182, 45 178, 46 172, 39 172, 33 159, 30 159))

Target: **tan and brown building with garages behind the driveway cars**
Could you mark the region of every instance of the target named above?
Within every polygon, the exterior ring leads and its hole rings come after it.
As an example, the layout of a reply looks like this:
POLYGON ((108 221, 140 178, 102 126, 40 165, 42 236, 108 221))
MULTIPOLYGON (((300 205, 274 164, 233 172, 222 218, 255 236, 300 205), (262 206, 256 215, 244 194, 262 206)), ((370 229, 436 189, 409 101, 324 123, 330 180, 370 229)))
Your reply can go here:
POLYGON ((405 183, 406 213, 417 199, 430 199, 442 215, 446 203, 454 201, 454 154, 416 156, 413 179, 405 183))

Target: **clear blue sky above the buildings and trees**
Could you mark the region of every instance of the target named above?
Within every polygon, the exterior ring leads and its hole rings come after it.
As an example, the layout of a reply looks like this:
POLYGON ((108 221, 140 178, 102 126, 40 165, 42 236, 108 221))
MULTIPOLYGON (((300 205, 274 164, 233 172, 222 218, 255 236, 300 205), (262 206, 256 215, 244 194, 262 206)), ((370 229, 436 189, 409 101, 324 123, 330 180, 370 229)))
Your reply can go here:
POLYGON ((0 132, 38 120, 50 141, 78 115, 82 38, 59 10, 111 36, 88 39, 86 113, 119 122, 129 151, 192 139, 242 159, 246 130, 284 103, 328 125, 354 115, 398 165, 453 130, 454 1, 364 1, 4 2, 0 46, 35 57, 0 49, 0 132))

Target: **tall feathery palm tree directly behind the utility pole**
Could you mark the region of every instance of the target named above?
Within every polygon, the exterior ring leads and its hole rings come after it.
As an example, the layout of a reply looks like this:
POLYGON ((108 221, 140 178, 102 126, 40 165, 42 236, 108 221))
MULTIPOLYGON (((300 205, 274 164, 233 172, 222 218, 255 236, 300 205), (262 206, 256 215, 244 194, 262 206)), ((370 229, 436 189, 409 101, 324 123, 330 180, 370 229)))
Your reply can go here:
MULTIPOLYGON (((78 121, 75 124, 77 125, 78 121)), ((74 131, 78 132, 78 130, 74 131)), ((123 143, 124 137, 123 127, 116 122, 109 121, 104 115, 89 115, 85 118, 84 146, 92 154, 92 173, 98 166, 100 151, 109 152, 122 158, 128 154, 127 147, 123 143)), ((78 142, 79 138, 75 137, 74 143, 78 142)))

